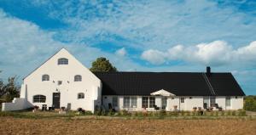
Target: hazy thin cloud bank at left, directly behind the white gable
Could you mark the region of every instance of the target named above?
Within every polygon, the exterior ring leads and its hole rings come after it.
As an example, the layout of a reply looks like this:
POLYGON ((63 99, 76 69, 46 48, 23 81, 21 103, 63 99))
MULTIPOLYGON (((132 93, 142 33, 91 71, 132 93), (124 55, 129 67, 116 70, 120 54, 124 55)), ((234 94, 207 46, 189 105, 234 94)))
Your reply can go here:
MULTIPOLYGON (((84 65, 90 67, 97 57, 107 57, 118 70, 143 70, 143 67, 126 57, 116 57, 114 53, 103 52, 85 44, 63 43, 55 41, 55 32, 43 31, 38 25, 12 17, 0 9, 0 70, 1 78, 8 76, 26 76, 41 65, 60 48, 67 48, 84 65), (125 65, 123 63, 125 62, 125 65)), ((121 48, 119 54, 126 53, 121 48)))

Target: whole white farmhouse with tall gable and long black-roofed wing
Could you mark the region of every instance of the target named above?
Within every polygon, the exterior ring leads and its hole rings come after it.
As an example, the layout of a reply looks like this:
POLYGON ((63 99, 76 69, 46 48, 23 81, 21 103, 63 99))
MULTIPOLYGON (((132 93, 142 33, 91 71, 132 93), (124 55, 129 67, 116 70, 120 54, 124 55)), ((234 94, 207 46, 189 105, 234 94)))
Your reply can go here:
POLYGON ((221 107, 239 110, 245 94, 230 73, 205 72, 96 72, 68 53, 55 53, 26 76, 20 98, 3 103, 2 110, 34 105, 94 112, 106 110, 192 110, 221 107))

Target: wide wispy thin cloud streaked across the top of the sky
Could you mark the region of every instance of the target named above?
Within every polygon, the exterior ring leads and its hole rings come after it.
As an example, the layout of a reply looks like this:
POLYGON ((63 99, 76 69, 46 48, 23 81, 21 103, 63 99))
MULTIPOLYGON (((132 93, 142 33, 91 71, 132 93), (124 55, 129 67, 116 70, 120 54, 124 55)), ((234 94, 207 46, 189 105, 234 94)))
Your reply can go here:
POLYGON ((193 1, 80 1, 35 3, 49 17, 70 27, 57 34, 68 42, 117 42, 122 47, 166 49, 170 44, 191 44, 224 39, 236 46, 255 40, 256 20, 217 2, 193 1), (55 8, 58 5, 58 8, 55 8), (125 41, 119 41, 119 38, 125 41))

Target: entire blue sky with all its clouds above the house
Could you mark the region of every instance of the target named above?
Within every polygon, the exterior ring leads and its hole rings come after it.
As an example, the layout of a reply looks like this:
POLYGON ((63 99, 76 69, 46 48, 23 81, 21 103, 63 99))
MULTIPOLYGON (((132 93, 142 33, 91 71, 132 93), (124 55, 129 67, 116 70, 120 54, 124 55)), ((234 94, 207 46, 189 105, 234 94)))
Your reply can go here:
POLYGON ((118 70, 232 72, 256 94, 253 1, 0 0, 1 77, 23 76, 60 48, 85 66, 118 70))

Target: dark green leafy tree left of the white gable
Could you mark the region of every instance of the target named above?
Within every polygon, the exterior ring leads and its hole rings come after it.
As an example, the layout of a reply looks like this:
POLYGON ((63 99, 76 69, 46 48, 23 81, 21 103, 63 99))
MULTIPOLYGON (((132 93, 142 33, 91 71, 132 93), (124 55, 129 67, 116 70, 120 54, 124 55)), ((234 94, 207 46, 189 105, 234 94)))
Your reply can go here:
POLYGON ((15 83, 15 76, 9 77, 8 83, 3 87, 5 94, 6 94, 6 101, 10 102, 14 98, 17 98, 20 96, 19 89, 20 87, 17 86, 15 83))

